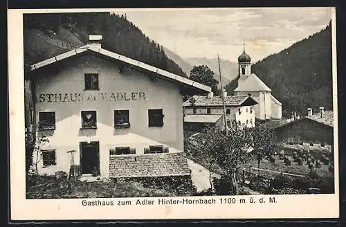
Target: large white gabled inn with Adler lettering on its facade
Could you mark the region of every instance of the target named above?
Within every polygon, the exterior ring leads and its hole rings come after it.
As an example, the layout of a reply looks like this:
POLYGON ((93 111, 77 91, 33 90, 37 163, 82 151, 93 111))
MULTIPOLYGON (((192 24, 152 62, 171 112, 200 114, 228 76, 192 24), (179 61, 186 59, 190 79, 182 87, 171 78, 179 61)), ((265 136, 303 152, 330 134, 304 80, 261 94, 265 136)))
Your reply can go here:
POLYGON ((33 64, 26 72, 26 93, 33 94, 26 96, 26 127, 49 140, 39 174, 73 165, 82 176, 190 175, 182 95, 210 91, 100 42, 33 64))

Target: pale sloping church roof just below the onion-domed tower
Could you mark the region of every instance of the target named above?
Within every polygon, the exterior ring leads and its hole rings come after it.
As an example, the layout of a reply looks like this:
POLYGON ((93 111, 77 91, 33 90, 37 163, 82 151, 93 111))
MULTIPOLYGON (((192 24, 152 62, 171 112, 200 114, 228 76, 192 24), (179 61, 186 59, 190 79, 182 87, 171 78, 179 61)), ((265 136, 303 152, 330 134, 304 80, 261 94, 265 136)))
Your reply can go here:
POLYGON ((253 73, 246 77, 241 76, 234 91, 271 91, 271 89, 253 73))

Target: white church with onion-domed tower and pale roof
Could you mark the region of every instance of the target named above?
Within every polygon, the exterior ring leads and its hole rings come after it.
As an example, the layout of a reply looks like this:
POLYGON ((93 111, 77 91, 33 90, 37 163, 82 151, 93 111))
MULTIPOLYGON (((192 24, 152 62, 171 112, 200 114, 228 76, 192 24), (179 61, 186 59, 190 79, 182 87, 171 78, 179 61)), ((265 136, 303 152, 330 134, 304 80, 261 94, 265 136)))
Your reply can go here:
POLYGON ((245 52, 238 57, 238 87, 233 90, 235 96, 251 96, 255 105, 255 118, 260 120, 281 119, 282 104, 272 94, 264 82, 251 73, 251 57, 245 52))

